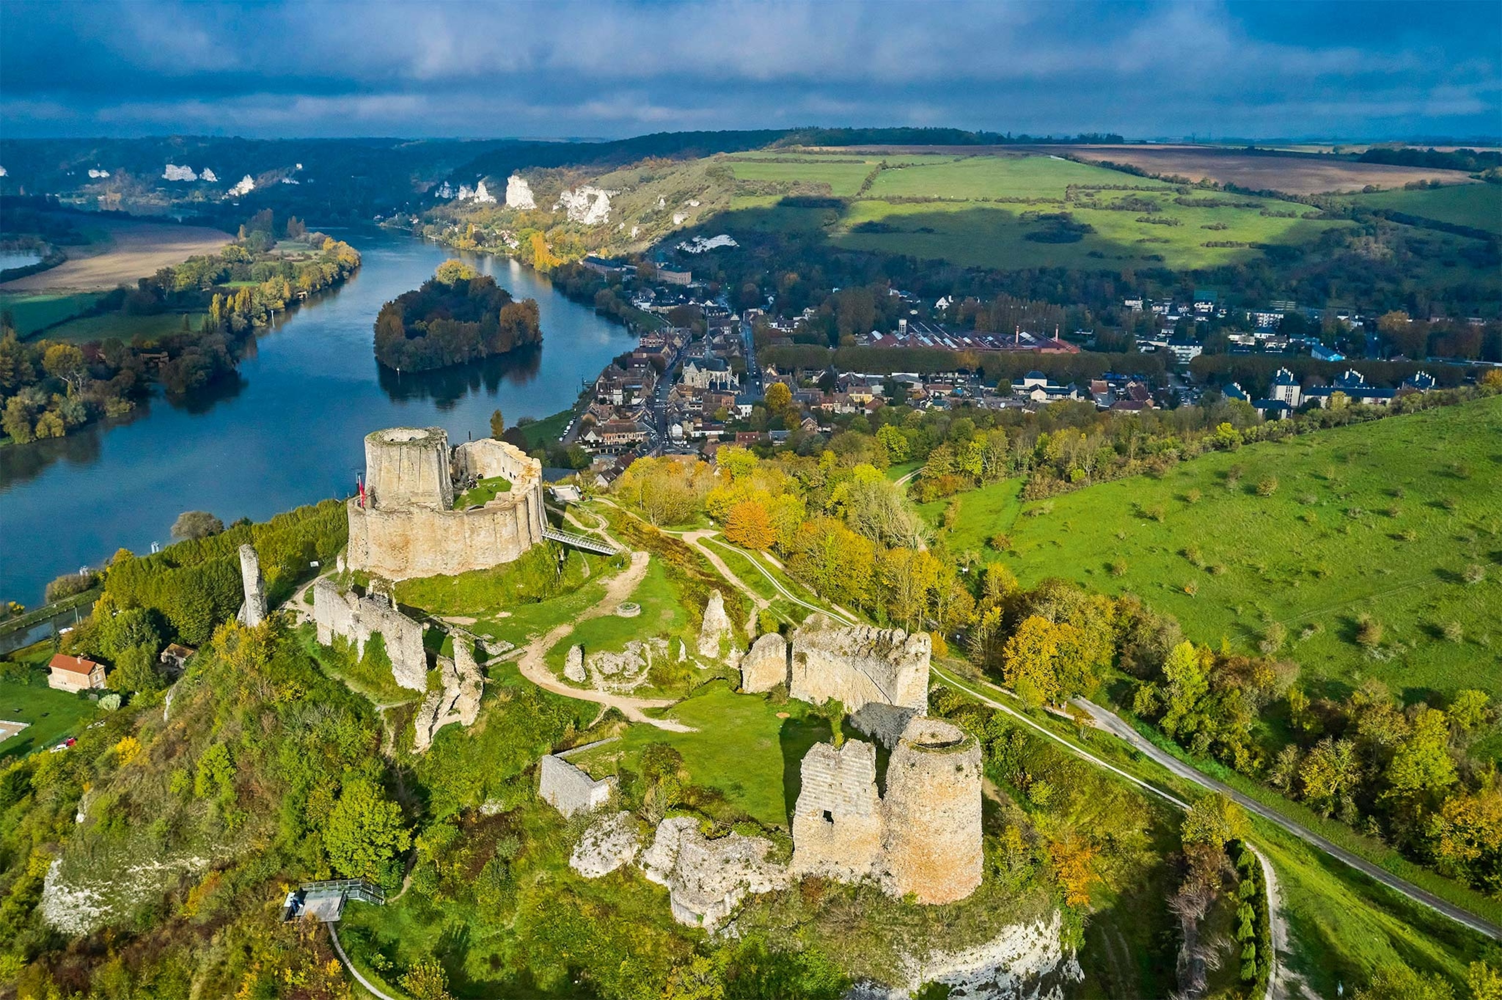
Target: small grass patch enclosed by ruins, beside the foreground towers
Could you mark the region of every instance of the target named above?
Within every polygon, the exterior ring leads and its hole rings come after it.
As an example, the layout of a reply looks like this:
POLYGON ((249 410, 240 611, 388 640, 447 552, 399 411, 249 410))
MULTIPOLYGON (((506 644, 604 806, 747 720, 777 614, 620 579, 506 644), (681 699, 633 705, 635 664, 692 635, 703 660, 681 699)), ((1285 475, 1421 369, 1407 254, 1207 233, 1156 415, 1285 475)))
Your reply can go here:
POLYGON ((798 802, 804 755, 829 739, 829 721, 813 706, 792 700, 778 706, 766 695, 736 694, 722 680, 704 685, 665 715, 695 731, 632 725, 619 742, 569 760, 598 779, 623 767, 637 770, 647 745, 667 743, 683 755, 691 784, 724 794, 727 818, 740 812, 786 827, 798 802))

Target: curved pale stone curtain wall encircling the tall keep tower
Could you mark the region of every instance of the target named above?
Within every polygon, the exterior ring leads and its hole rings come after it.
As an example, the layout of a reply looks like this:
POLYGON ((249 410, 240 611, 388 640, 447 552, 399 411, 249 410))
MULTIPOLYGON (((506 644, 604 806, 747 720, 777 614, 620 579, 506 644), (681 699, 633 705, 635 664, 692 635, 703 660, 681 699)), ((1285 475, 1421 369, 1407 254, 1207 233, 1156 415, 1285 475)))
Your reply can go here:
MULTIPOLYGON (((371 461, 369 450, 366 438, 366 461, 371 461)), ((392 449, 377 449, 377 459, 385 461, 389 450, 392 449)), ((397 465, 398 471, 406 468, 401 462, 397 465)), ((424 465, 422 471, 407 479, 422 480, 425 468, 424 465)), ((461 477, 505 476, 511 480, 511 489, 467 511, 449 509, 454 492, 446 476, 445 506, 418 500, 392 506, 382 494, 365 508, 360 508, 359 500, 350 500, 345 505, 350 518, 350 568, 389 580, 454 575, 509 563, 542 541, 541 462, 505 441, 482 440, 455 449, 454 471, 461 477)), ((416 491, 404 489, 398 495, 416 497, 416 491)))

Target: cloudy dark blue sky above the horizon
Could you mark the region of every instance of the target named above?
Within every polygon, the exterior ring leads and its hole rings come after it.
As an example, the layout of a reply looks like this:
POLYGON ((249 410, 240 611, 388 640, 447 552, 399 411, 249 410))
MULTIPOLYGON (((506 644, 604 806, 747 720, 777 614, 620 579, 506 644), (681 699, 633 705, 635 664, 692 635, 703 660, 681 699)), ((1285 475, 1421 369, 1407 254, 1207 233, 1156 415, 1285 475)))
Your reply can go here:
POLYGON ((0 137, 1502 134, 1502 0, 0 3, 0 137))

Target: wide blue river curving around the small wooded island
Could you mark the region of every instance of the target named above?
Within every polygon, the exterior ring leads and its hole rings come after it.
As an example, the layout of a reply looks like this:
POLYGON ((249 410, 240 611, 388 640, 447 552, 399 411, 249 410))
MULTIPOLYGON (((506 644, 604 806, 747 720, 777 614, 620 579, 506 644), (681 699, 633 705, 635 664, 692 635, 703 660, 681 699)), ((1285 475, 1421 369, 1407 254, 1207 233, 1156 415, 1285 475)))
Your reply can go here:
POLYGON ((263 521, 347 495, 369 431, 442 426, 463 441, 490 434, 497 407, 508 426, 557 413, 634 342, 536 272, 467 257, 517 299, 538 300, 541 347, 398 377, 376 363, 376 312, 457 254, 400 234, 330 233, 360 251, 360 269, 261 332, 237 378, 188 401, 153 396, 60 440, 0 447, 0 599, 36 605, 60 574, 122 547, 167 545, 183 511, 263 521))

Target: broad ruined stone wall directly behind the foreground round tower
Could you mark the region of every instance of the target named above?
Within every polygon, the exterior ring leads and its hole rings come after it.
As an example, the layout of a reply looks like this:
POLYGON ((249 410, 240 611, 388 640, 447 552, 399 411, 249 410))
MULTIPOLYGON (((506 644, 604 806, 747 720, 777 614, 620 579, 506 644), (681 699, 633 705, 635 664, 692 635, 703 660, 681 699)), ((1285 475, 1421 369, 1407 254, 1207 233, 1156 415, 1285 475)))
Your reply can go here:
POLYGON ((793 632, 789 694, 814 704, 838 698, 852 713, 879 703, 922 715, 928 706, 930 655, 931 640, 924 632, 837 626, 813 616, 793 632))

